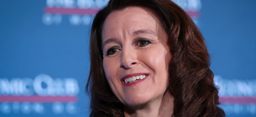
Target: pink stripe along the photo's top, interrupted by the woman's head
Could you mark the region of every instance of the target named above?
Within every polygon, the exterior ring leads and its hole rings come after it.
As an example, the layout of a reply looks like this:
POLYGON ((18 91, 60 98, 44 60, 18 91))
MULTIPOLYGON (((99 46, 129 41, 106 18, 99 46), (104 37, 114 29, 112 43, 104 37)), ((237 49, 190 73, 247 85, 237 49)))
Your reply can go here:
MULTIPOLYGON (((62 15, 95 15, 99 8, 57 8, 57 7, 45 7, 44 12, 50 14, 62 14, 62 15)), ((192 18, 199 18, 200 11, 198 10, 186 10, 188 15, 192 18)))

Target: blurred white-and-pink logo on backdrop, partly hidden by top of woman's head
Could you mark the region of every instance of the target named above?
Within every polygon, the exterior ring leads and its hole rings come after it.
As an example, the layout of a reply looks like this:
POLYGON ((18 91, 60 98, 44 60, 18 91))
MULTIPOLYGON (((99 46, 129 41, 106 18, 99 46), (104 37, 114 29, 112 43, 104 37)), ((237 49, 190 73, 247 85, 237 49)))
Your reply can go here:
MULTIPOLYGON (((197 24, 202 7, 201 0, 173 0, 182 7, 197 24)), ((73 26, 92 23, 96 12, 105 6, 108 0, 46 0, 43 9, 42 21, 45 25, 60 25, 63 18, 68 16, 68 21, 73 26)))

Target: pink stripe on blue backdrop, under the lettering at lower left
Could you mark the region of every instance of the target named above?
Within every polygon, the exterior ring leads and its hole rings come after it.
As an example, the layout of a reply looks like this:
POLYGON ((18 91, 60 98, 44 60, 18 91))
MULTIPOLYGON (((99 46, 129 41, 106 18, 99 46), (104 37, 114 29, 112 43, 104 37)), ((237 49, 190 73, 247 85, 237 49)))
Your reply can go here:
POLYGON ((0 102, 77 102, 77 96, 0 96, 0 102))

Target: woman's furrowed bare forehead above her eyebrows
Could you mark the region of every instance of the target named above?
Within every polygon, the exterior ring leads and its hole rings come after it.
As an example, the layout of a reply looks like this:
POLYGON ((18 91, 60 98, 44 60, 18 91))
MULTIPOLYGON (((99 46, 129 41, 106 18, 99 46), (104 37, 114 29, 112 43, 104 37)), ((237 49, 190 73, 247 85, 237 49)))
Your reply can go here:
POLYGON ((140 29, 156 31, 160 25, 160 21, 152 11, 141 7, 127 7, 124 10, 113 11, 107 16, 102 37, 108 37, 114 33, 113 31, 126 30, 128 33, 140 29))

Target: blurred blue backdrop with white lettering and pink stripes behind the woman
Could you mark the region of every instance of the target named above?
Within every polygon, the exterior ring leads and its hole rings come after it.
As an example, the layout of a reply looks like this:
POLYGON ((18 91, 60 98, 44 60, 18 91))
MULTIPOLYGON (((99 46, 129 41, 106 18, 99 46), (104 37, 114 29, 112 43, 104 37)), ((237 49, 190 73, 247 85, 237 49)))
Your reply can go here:
MULTIPOLYGON (((174 0, 211 54, 227 116, 256 116, 256 1, 174 0)), ((107 0, 0 0, 0 116, 88 116, 95 11, 107 0)))

